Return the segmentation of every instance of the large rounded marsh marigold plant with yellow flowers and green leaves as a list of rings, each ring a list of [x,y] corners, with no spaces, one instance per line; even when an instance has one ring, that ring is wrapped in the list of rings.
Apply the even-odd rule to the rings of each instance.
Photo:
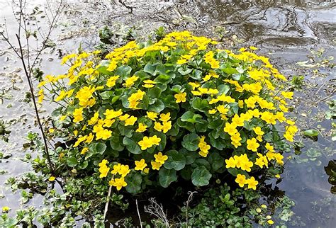
[[[64,57],[67,74],[38,85],[39,101],[60,104],[60,159],[130,193],[181,178],[206,186],[222,173],[256,190],[260,173],[279,176],[298,131],[286,115],[293,92],[255,47],[217,46],[184,31]]]

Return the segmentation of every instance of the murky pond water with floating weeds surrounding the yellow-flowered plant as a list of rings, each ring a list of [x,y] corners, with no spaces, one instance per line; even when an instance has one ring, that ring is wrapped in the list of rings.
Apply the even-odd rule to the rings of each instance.
[[[52,1],[50,1],[52,2]],[[45,1],[29,1],[29,8]],[[128,7],[125,7],[128,6]],[[43,13],[41,13],[43,15]],[[0,0],[0,25],[6,17],[10,37],[17,29],[11,1]],[[45,26],[43,17],[38,17]],[[332,120],[326,120],[327,101],[335,100],[335,69],[323,60],[335,57],[335,1],[68,1],[52,42],[55,47],[43,52],[40,67],[46,74],[60,74],[60,52],[74,52],[79,45],[92,49],[99,44],[97,31],[103,25],[116,30],[116,43],[129,27],[139,38],[163,25],[168,30],[192,30],[201,35],[235,40],[234,47],[255,45],[260,55],[266,55],[286,76],[303,75],[306,84],[296,93],[298,125],[303,130],[320,131],[318,141],[303,139],[301,155],[292,155],[277,184],[279,190],[296,203],[293,222],[289,227],[335,227],[336,196],[330,192],[324,167],[336,159],[332,141]],[[43,27],[42,27],[43,28]],[[233,37],[233,35],[235,35]],[[313,58],[311,50],[325,52]],[[304,62],[308,57],[311,62]],[[331,61],[332,62],[332,61]],[[317,65],[320,63],[320,65]],[[335,63],[335,61],[334,61]],[[313,66],[312,66],[313,65]],[[329,65],[330,66],[330,65]],[[317,70],[317,71],[316,71]],[[28,131],[37,131],[33,121],[33,106],[24,101],[28,88],[20,62],[0,41],[0,118],[9,122],[9,142],[0,141],[0,152],[12,154],[0,159],[0,183],[9,176],[29,170],[22,143]],[[45,113],[47,111],[45,110]],[[335,140],[335,138],[334,138]],[[0,207],[18,209],[20,195],[1,184]],[[30,204],[38,204],[33,200]]]

